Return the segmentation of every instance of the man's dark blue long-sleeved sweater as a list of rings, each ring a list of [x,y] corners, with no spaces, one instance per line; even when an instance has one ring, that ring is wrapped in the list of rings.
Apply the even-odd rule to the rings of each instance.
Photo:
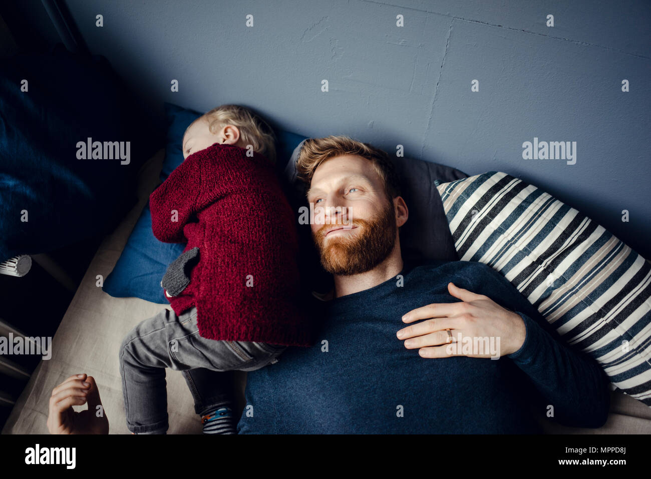
[[[423,358],[396,337],[402,315],[459,301],[448,282],[523,318],[526,338],[500,359]],[[316,300],[315,300],[316,301]],[[589,428],[605,423],[608,380],[567,346],[506,279],[476,262],[435,262],[327,302],[310,348],[248,373],[239,433],[540,433],[532,409]]]

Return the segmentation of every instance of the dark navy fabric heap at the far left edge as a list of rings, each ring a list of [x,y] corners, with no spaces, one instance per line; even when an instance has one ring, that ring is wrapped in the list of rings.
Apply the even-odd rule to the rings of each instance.
[[[124,217],[136,172],[161,143],[130,98],[100,56],[56,48],[3,59],[0,261],[108,232]],[[79,159],[89,138],[130,142],[129,164]]]

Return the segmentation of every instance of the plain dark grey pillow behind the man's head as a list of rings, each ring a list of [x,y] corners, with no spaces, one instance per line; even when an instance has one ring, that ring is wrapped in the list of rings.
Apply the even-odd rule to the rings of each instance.
[[[292,185],[295,204],[305,203],[305,185],[297,178],[296,159],[305,140],[296,146],[284,170],[284,178]],[[391,157],[391,156],[390,156]],[[452,182],[467,178],[456,168],[420,159],[391,157],[400,176],[402,197],[409,209],[409,219],[400,228],[402,258],[415,265],[431,260],[458,260],[450,234],[441,195],[434,180]]]

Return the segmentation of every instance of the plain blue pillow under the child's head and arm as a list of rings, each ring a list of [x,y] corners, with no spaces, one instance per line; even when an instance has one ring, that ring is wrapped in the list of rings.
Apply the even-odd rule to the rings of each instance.
[[[161,182],[183,162],[183,135],[187,126],[201,115],[197,111],[165,103],[167,138]],[[280,174],[294,148],[305,137],[282,130],[276,131],[276,137],[276,169]],[[183,253],[185,247],[184,243],[163,243],[156,239],[152,232],[152,215],[147,202],[102,289],[113,297],[139,297],[152,303],[169,304],[160,282],[167,266]]]

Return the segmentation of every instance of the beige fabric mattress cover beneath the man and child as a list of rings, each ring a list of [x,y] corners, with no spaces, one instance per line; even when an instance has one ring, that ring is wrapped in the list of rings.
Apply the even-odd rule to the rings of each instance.
[[[3,428],[4,434],[48,433],[48,400],[52,389],[72,374],[93,376],[100,389],[111,434],[128,434],[122,402],[118,348],[122,338],[139,322],[154,316],[165,305],[143,299],[115,298],[96,286],[96,275],[104,279],[113,270],[133,226],[158,184],[164,150],[141,168],[139,202],[116,230],[100,245],[52,340],[52,357],[42,360],[29,379]],[[245,375],[242,374],[243,388]],[[242,389],[241,389],[242,390]],[[602,428],[565,428],[541,418],[548,433],[651,433],[651,408],[619,390],[613,393],[608,421]],[[179,371],[167,370],[169,434],[201,433],[192,396]],[[240,398],[242,401],[243,398]],[[74,406],[81,411],[87,406]]]

